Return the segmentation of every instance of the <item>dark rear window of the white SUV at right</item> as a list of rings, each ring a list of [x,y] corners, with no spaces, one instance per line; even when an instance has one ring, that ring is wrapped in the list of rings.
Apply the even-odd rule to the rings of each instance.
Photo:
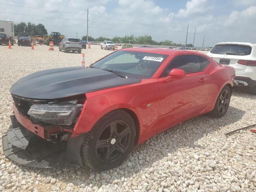
[[[250,55],[252,47],[246,45],[216,45],[210,51],[221,55]]]

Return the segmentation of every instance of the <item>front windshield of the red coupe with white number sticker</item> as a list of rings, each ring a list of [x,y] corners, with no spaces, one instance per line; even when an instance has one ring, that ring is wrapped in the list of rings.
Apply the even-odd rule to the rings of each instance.
[[[151,78],[167,57],[147,52],[117,51],[94,63],[93,67],[121,72],[128,78]]]

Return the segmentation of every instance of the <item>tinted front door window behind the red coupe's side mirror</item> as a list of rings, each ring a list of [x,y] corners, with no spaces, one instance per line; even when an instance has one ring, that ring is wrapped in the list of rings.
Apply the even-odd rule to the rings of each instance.
[[[182,69],[186,74],[201,71],[198,57],[194,55],[184,55],[174,58],[174,60],[172,60],[172,62],[167,66],[162,77],[168,76],[174,68]]]

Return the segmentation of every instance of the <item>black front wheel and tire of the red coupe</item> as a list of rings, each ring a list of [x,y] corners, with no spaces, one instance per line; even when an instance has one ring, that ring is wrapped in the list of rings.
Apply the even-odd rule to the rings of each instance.
[[[135,136],[134,120],[128,113],[109,112],[87,133],[81,147],[84,164],[97,171],[119,166],[132,150]]]

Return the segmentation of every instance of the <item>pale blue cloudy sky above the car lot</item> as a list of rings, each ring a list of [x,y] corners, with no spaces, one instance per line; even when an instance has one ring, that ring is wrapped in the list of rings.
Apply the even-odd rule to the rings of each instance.
[[[81,38],[87,9],[88,34],[94,38],[150,35],[185,44],[188,27],[187,44],[193,44],[196,28],[198,47],[204,36],[204,47],[256,43],[256,0],[0,0],[0,20],[42,23],[48,33]]]

